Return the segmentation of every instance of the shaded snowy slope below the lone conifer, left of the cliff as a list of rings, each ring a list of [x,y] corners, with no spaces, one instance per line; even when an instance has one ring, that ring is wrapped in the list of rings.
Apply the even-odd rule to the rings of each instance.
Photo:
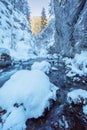
[[[37,36],[36,36],[36,48],[37,53],[40,57],[47,57],[50,48],[54,46],[55,43],[55,19],[51,19],[46,26]]]

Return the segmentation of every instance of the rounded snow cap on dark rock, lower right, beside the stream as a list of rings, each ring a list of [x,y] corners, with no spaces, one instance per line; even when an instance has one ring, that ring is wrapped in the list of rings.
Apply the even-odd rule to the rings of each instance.
[[[67,94],[67,101],[71,104],[86,104],[87,103],[87,91],[82,89],[77,89],[69,92]]]

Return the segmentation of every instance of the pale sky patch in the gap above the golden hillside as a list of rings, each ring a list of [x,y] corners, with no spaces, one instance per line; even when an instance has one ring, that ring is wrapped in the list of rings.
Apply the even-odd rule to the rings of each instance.
[[[31,9],[31,16],[40,16],[42,8],[46,9],[46,15],[48,16],[48,3],[49,0],[28,0]]]

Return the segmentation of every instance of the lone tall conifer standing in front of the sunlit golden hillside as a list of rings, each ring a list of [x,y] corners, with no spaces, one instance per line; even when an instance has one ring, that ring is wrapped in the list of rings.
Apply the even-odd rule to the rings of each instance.
[[[41,29],[44,29],[47,25],[46,11],[45,8],[42,8],[41,12]]]

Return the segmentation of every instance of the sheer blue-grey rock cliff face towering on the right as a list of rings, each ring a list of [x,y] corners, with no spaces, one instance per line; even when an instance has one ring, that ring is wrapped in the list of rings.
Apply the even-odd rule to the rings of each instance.
[[[56,51],[65,56],[87,50],[87,0],[54,0]]]

